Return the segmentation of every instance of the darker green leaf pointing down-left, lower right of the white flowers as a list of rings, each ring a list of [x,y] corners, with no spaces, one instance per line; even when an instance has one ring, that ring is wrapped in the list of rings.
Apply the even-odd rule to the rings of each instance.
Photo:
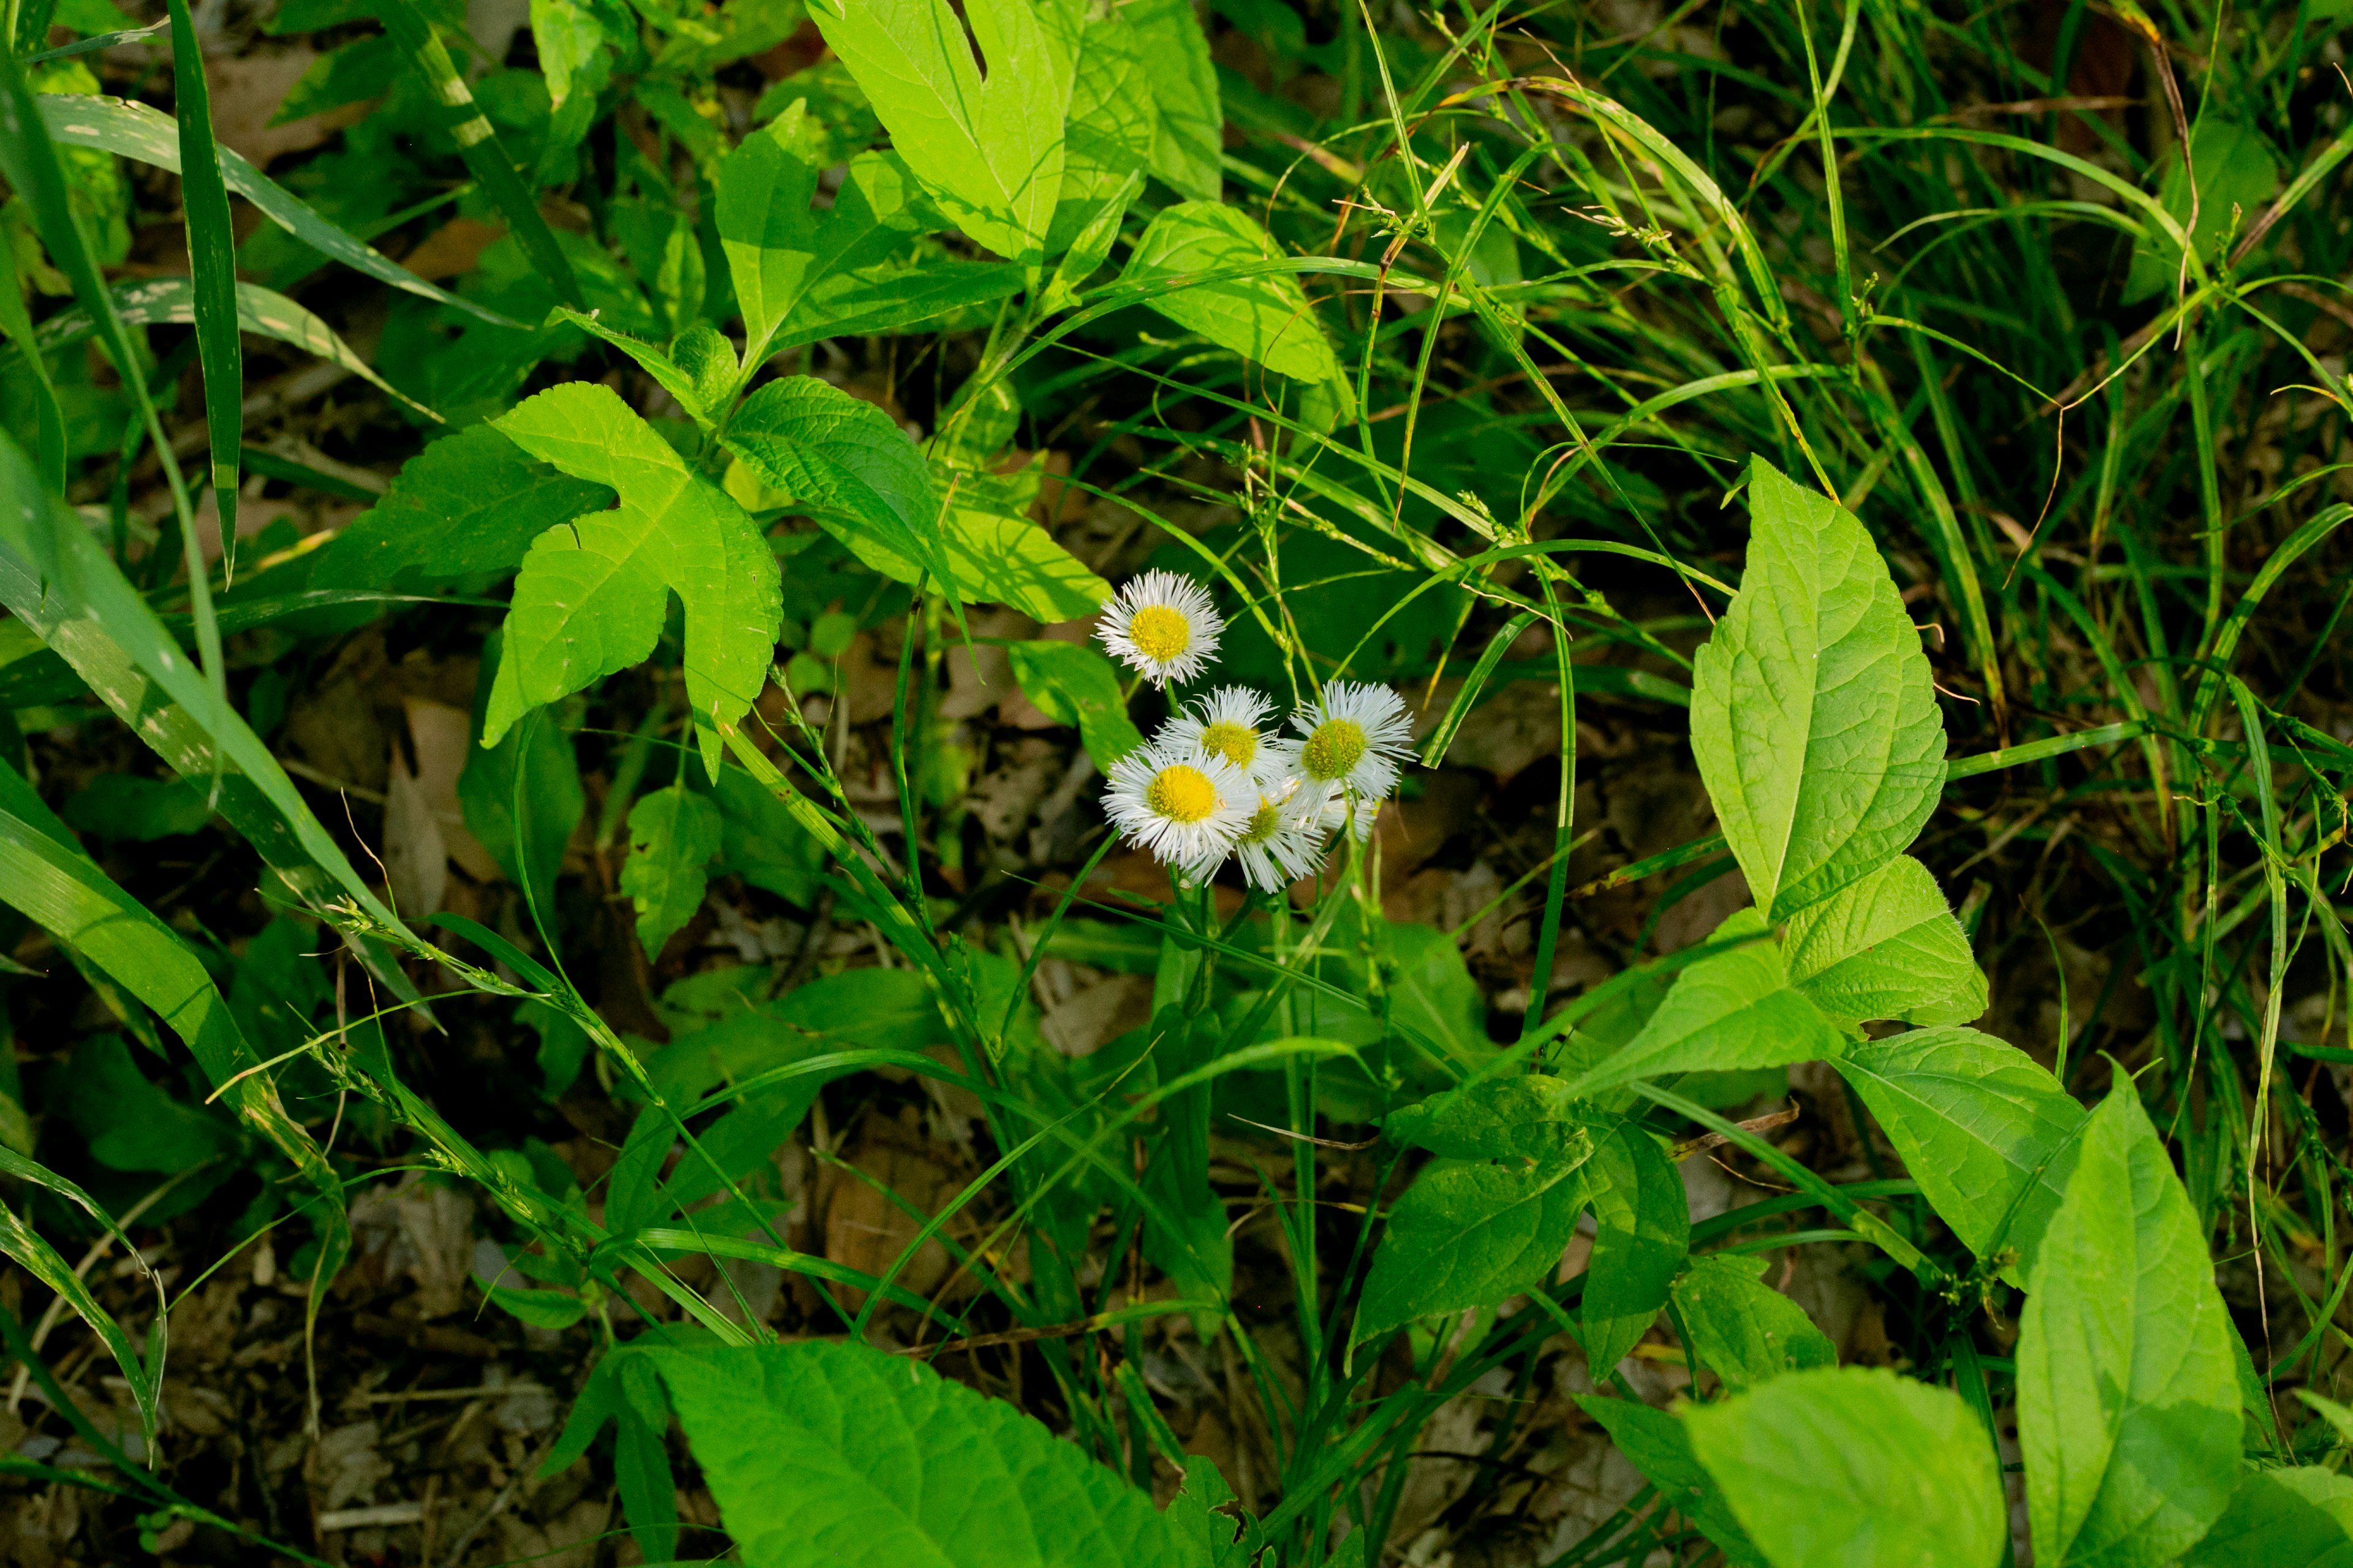
[[[1577,1234],[1591,1145],[1551,1161],[1438,1159],[1388,1211],[1351,1345],[1544,1284]]]

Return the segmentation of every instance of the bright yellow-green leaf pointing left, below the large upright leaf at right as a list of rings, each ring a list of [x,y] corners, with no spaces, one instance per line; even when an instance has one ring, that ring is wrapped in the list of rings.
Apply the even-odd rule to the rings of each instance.
[[[1758,936],[1765,922],[1741,910],[1708,940]],[[1788,985],[1781,947],[1769,936],[1699,959],[1675,973],[1659,1011],[1621,1051],[1577,1079],[1577,1093],[1657,1077],[1661,1072],[1729,1072],[1784,1067],[1840,1056],[1847,1048],[1821,1009]]]

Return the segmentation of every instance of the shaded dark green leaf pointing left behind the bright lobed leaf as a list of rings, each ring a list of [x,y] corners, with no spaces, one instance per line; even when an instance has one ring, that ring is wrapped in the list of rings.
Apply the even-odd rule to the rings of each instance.
[[[308,588],[424,592],[513,571],[548,529],[612,505],[612,489],[555,473],[489,425],[438,440],[332,541],[292,562]],[[278,571],[252,578],[282,592]]]

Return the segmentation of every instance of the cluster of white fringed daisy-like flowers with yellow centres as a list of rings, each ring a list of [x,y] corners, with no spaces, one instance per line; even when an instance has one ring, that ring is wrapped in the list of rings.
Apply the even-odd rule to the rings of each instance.
[[[1146,571],[1104,609],[1094,635],[1167,689],[1209,668],[1224,630],[1200,583]],[[1369,837],[1414,738],[1402,698],[1388,686],[1332,682],[1292,715],[1297,736],[1273,729],[1273,712],[1275,703],[1247,686],[1219,686],[1181,708],[1111,766],[1111,823],[1193,882],[1235,856],[1249,886],[1268,893],[1315,872],[1332,832]]]

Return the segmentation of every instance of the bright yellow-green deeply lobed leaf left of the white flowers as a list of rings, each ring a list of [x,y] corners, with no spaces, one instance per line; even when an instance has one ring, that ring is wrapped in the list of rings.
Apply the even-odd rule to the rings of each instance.
[[[760,696],[784,621],[776,557],[760,529],[607,386],[572,381],[492,423],[534,458],[612,487],[621,505],[548,529],[522,557],[482,743],[496,745],[532,708],[645,661],[675,592],[687,708],[715,778],[720,729]]]

